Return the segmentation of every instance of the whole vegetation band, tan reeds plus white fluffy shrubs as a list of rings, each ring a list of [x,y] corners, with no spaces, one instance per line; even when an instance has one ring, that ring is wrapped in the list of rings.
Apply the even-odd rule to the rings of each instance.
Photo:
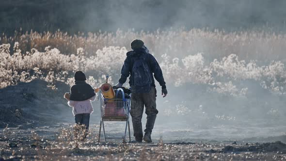
[[[286,89],[286,35],[270,32],[223,32],[203,29],[156,32],[15,32],[0,39],[0,88],[41,78],[72,83],[76,70],[87,73],[97,86],[104,75],[114,80],[129,43],[143,39],[157,58],[168,84],[205,84],[212,91],[244,95],[251,80],[279,95]]]

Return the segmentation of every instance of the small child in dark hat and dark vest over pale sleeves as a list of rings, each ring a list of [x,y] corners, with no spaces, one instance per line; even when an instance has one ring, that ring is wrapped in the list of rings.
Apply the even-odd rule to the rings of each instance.
[[[77,71],[75,85],[70,88],[70,94],[64,94],[64,98],[68,100],[67,104],[73,107],[76,124],[85,125],[88,131],[90,114],[94,111],[91,101],[95,100],[96,94],[95,90],[85,81],[84,73]]]

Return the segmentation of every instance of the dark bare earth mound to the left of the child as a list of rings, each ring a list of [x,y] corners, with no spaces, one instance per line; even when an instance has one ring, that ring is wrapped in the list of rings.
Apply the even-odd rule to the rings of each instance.
[[[34,80],[0,89],[0,128],[7,124],[20,129],[36,128],[72,119],[71,109],[62,96],[69,87],[57,83],[59,88],[54,91],[47,84]]]

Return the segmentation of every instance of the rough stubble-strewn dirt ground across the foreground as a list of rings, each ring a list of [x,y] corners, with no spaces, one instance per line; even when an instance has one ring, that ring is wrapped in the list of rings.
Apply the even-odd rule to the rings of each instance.
[[[63,128],[64,127],[64,128]],[[115,131],[109,135],[118,136]],[[102,137],[102,136],[101,136]],[[97,142],[98,125],[92,126],[88,137],[79,141],[73,128],[57,125],[35,129],[5,128],[0,134],[0,161],[256,161],[286,160],[286,144],[227,143],[221,141],[165,142],[152,144],[122,143],[122,140]]]

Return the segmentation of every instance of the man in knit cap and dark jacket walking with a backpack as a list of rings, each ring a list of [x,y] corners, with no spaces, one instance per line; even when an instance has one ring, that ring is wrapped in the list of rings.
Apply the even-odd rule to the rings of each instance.
[[[156,109],[157,91],[155,79],[162,87],[162,95],[166,97],[167,89],[163,78],[162,70],[149,50],[144,46],[142,40],[135,39],[130,44],[132,51],[127,52],[127,58],[121,69],[121,76],[117,86],[122,86],[129,77],[131,87],[131,110],[134,137],[136,142],[144,140],[151,143],[151,132],[154,127],[158,110]],[[154,77],[153,77],[154,74]],[[143,137],[142,115],[145,106],[147,114],[146,129]]]

